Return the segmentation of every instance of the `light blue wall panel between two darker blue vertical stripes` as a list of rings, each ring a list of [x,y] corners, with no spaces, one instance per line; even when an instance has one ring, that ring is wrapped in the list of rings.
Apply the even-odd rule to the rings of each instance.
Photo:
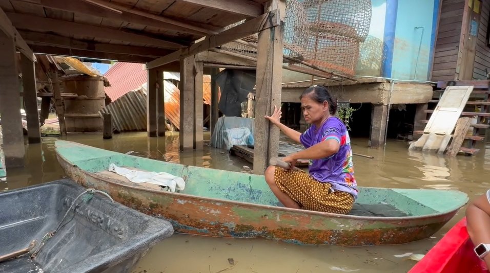
[[[398,2],[391,78],[428,80],[428,71],[432,66],[431,45],[434,44],[433,29],[437,23],[438,0],[387,1]]]

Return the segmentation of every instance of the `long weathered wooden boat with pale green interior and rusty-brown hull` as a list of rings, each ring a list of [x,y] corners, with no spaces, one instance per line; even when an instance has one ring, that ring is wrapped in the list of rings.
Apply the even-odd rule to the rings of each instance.
[[[433,235],[468,201],[465,193],[452,190],[360,187],[349,215],[322,213],[282,207],[263,175],[155,161],[60,140],[56,153],[77,183],[166,218],[180,233],[298,244],[401,244]],[[109,172],[111,163],[180,176],[185,190],[173,193],[131,183]]]

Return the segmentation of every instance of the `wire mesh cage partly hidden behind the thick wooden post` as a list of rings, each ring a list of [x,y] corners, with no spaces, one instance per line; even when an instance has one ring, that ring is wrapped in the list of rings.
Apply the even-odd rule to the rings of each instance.
[[[230,29],[242,24],[245,20],[241,20],[232,24],[225,29]],[[283,55],[293,58],[299,58],[304,51],[304,45],[308,37],[308,25],[306,24],[307,14],[303,5],[298,0],[287,0],[286,10],[284,15],[284,32],[283,32]],[[238,42],[230,42],[221,45],[221,49],[237,52],[250,57],[257,57],[257,42],[258,34],[253,34],[243,38],[242,40],[250,42],[255,47],[244,45]]]

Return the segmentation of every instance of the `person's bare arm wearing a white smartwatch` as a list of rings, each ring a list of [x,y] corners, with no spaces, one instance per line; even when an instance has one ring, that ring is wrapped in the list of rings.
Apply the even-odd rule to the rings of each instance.
[[[475,254],[490,268],[490,190],[468,205],[466,220]]]

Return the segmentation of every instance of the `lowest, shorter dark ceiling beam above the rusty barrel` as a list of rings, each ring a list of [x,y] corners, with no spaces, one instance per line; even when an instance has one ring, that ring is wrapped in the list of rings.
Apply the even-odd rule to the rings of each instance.
[[[84,57],[84,58],[93,58],[93,59],[102,59],[102,60],[138,62],[138,63],[146,63],[148,61],[153,60],[153,58],[147,58],[147,57],[142,57],[142,56],[104,53],[104,52],[95,52],[95,51],[77,50],[77,49],[56,48],[56,47],[48,47],[45,45],[34,45],[33,44],[33,45],[31,45],[31,47],[35,53],[50,54],[50,55],[75,56],[75,57]]]

